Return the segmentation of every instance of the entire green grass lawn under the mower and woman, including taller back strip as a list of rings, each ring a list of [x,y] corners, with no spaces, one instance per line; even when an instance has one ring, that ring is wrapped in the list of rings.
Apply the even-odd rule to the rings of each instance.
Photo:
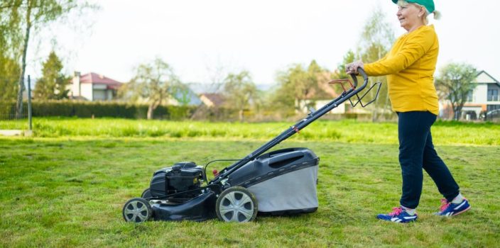
[[[320,208],[315,213],[259,216],[244,224],[210,220],[135,225],[121,217],[123,204],[148,187],[156,169],[186,160],[204,164],[238,159],[288,125],[40,119],[35,137],[0,137],[0,246],[498,245],[500,129],[491,124],[437,123],[433,128],[437,151],[472,204],[472,210],[456,218],[432,215],[441,196],[425,175],[418,222],[376,220],[376,213],[398,204],[401,193],[396,124],[352,120],[313,123],[276,147],[309,147],[320,156]]]

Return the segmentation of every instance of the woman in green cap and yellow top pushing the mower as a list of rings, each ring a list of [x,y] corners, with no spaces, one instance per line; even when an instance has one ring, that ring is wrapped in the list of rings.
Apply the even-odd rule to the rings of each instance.
[[[434,14],[433,0],[392,0],[398,5],[399,23],[407,33],[396,40],[386,57],[363,64],[353,62],[346,71],[359,67],[370,76],[387,75],[388,94],[393,111],[398,114],[399,163],[403,176],[400,207],[377,215],[381,220],[411,222],[417,219],[415,208],[422,193],[423,171],[427,171],[445,199],[437,215],[453,216],[470,209],[452,174],[434,150],[430,126],[439,111],[433,74],[439,52],[434,26],[428,15]]]

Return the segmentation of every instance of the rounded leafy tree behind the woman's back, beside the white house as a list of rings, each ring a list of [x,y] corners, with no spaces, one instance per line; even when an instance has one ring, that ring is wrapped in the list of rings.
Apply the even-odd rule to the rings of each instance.
[[[451,63],[440,69],[435,84],[441,98],[452,104],[455,120],[460,119],[460,111],[467,101],[467,95],[474,89],[477,69],[471,64]]]

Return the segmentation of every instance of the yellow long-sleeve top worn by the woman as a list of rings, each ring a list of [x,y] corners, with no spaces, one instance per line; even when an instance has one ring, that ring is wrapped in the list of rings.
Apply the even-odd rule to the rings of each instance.
[[[364,70],[369,76],[387,75],[393,111],[429,111],[437,115],[434,72],[438,52],[434,26],[421,26],[401,35],[386,57],[364,64]]]

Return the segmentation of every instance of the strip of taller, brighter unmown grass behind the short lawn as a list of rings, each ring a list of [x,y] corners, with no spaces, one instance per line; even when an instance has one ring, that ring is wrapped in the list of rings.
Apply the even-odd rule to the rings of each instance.
[[[294,123],[207,123],[197,121],[124,120],[112,118],[36,118],[35,137],[173,137],[268,140]],[[27,129],[26,120],[1,121],[1,129]],[[440,145],[500,145],[500,125],[437,122],[434,141]],[[396,144],[397,123],[318,120],[294,140]]]

